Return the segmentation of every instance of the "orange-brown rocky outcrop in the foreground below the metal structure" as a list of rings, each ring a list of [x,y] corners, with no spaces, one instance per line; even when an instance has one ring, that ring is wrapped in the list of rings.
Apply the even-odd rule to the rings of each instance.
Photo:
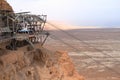
[[[0,56],[0,80],[84,80],[65,52],[44,48]]]

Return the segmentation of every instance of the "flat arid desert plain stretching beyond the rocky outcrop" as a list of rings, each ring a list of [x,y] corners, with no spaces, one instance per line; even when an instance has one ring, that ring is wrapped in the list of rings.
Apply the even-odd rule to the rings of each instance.
[[[120,29],[50,31],[44,45],[69,53],[85,80],[120,80]]]

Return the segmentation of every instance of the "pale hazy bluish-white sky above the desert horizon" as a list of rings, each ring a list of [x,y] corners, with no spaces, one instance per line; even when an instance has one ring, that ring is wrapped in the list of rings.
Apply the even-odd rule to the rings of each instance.
[[[47,14],[79,26],[120,27],[120,0],[7,0],[15,12]]]

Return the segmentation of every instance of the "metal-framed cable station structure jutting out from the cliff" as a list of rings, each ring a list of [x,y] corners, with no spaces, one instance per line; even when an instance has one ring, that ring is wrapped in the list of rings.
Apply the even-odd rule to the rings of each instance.
[[[11,13],[9,11],[0,13],[0,41],[11,41],[7,49],[15,50],[28,43],[40,43],[42,46],[49,33],[44,31],[46,15],[33,15],[29,12]]]

